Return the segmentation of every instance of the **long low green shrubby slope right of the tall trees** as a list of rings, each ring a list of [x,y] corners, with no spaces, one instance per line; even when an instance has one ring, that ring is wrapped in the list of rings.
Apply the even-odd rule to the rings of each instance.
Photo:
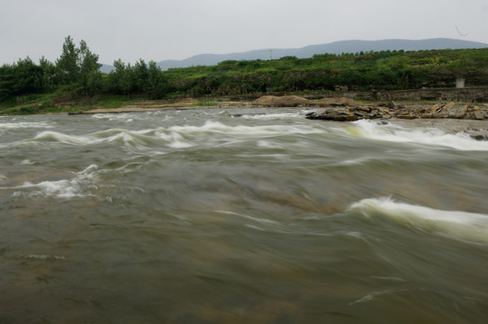
[[[382,51],[321,54],[313,58],[223,61],[213,67],[174,68],[165,72],[170,91],[201,96],[265,92],[415,89],[488,85],[488,49]]]

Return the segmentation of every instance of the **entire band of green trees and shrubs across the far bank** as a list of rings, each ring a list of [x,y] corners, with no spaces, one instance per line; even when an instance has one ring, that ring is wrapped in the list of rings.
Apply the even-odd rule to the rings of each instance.
[[[55,63],[19,59],[0,67],[0,112],[76,111],[90,106],[121,106],[132,98],[224,96],[269,92],[415,89],[488,85],[488,49],[443,49],[320,54],[313,58],[222,61],[212,67],[161,71],[140,59],[121,59],[109,74],[99,71],[98,55],[86,42],[68,36]],[[201,105],[211,102],[201,103]]]

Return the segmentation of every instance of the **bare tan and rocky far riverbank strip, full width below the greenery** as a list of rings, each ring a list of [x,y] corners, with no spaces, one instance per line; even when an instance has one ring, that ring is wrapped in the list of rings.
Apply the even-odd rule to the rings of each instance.
[[[38,113],[122,113],[153,112],[160,110],[187,110],[202,108],[259,108],[259,107],[301,107],[315,110],[306,117],[312,120],[357,121],[362,119],[397,118],[412,119],[456,119],[484,121],[488,119],[488,103],[447,102],[447,101],[364,101],[337,96],[308,95],[263,95],[249,98],[185,97],[173,100],[120,100],[107,102],[100,99],[91,101],[73,98],[56,98],[50,101],[53,109],[43,109],[41,103],[3,110],[2,114]]]

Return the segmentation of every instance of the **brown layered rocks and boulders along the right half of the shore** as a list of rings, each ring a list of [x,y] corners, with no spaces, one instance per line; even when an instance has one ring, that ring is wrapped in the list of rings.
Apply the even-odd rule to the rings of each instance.
[[[447,132],[463,132],[474,139],[488,140],[488,103],[418,103],[376,102],[362,103],[350,98],[322,98],[307,100],[296,95],[267,95],[252,102],[267,107],[321,108],[306,115],[310,120],[358,121],[395,119],[395,122],[415,122]]]

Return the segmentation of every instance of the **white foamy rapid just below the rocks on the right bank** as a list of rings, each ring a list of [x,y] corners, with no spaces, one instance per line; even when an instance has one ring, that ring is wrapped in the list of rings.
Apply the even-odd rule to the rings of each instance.
[[[366,139],[378,139],[400,143],[417,143],[459,150],[488,150],[488,141],[472,139],[464,133],[447,134],[433,128],[406,129],[388,123],[381,125],[376,121],[354,121],[355,127],[346,128],[350,134]]]

